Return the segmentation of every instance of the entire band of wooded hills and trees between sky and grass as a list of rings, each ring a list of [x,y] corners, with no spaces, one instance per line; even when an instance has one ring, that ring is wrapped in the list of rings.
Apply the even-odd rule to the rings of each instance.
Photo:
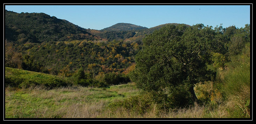
[[[248,117],[250,37],[250,24],[169,23],[148,29],[118,23],[93,30],[44,13],[5,10],[5,67],[68,77],[85,86],[88,80],[101,86],[132,81],[167,109],[205,104],[220,98],[218,93],[226,99],[240,96],[231,91],[231,83],[223,86],[229,81],[223,73],[246,66],[239,71],[249,73],[249,80],[241,81],[249,93],[243,94],[240,108]],[[209,85],[208,91],[202,88]]]

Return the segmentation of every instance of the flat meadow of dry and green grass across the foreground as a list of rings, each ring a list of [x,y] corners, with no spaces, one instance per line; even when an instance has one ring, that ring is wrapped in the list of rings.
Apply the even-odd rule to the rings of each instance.
[[[189,108],[164,111],[156,104],[145,113],[119,107],[110,109],[108,104],[124,100],[140,91],[135,84],[110,88],[66,87],[51,90],[42,87],[5,89],[6,118],[229,118],[229,108],[236,103],[195,105]],[[214,107],[213,107],[214,106]]]

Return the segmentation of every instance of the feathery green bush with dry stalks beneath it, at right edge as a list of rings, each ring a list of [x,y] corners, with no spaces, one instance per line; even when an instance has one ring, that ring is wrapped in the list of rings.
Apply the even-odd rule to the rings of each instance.
[[[223,92],[228,98],[231,117],[250,117],[250,43],[245,44],[242,52],[227,63],[223,78]]]

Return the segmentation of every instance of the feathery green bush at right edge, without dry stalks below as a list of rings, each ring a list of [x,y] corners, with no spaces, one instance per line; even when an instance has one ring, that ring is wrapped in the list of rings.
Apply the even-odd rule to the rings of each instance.
[[[236,59],[235,59],[236,58]],[[250,44],[247,43],[243,52],[227,63],[229,69],[225,72],[225,92],[243,99],[250,97]]]

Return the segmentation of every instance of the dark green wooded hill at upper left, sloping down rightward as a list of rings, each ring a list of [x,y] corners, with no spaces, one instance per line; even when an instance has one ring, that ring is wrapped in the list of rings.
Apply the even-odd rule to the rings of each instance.
[[[97,37],[69,21],[44,13],[15,13],[5,10],[5,37],[17,44],[69,41]]]

